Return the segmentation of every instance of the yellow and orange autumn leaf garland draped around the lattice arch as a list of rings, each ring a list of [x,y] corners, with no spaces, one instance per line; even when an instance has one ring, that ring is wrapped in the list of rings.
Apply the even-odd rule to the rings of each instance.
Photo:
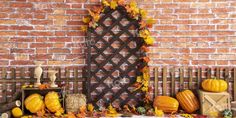
[[[98,26],[97,22],[100,19],[100,14],[104,12],[106,7],[110,7],[110,9],[115,10],[117,7],[122,6],[125,8],[129,16],[135,20],[139,21],[139,37],[144,41],[141,50],[143,52],[148,52],[147,48],[150,45],[153,45],[154,39],[151,37],[151,33],[148,28],[152,27],[154,20],[151,18],[147,18],[147,12],[143,9],[138,8],[137,3],[135,1],[130,2],[129,4],[125,4],[124,0],[102,0],[102,6],[95,7],[93,10],[89,10],[89,17],[83,18],[83,22],[87,24],[87,26],[82,26],[81,30],[87,31],[88,28],[96,28]],[[144,20],[145,19],[145,20]],[[142,75],[136,78],[136,83],[134,86],[136,90],[140,89],[143,92],[149,91],[149,67],[148,62],[150,61],[149,57],[144,56],[140,58],[144,63],[144,67],[141,68]]]

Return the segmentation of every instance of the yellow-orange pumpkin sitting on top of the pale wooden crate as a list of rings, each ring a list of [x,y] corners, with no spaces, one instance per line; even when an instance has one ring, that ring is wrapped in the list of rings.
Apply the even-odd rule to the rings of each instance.
[[[222,79],[205,79],[202,82],[202,88],[210,92],[223,92],[227,90],[228,85],[227,82]]]

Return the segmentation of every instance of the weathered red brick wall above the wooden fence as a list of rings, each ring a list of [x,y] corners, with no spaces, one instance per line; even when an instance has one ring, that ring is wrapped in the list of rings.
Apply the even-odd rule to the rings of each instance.
[[[99,0],[1,0],[0,65],[84,66],[86,11]],[[236,64],[235,0],[139,0],[157,22],[152,66]]]

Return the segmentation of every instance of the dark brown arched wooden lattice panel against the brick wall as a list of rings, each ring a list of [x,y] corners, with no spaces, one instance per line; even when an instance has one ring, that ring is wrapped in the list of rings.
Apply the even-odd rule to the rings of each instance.
[[[141,98],[132,84],[142,65],[138,21],[125,8],[106,8],[98,26],[88,31],[87,95],[95,106],[124,105]]]

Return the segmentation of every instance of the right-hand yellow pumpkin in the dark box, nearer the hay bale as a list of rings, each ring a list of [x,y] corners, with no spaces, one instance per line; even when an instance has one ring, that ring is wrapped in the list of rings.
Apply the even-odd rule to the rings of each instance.
[[[44,102],[47,109],[52,113],[55,113],[60,109],[62,109],[59,100],[59,95],[57,92],[54,91],[48,92],[48,94],[45,96]]]

